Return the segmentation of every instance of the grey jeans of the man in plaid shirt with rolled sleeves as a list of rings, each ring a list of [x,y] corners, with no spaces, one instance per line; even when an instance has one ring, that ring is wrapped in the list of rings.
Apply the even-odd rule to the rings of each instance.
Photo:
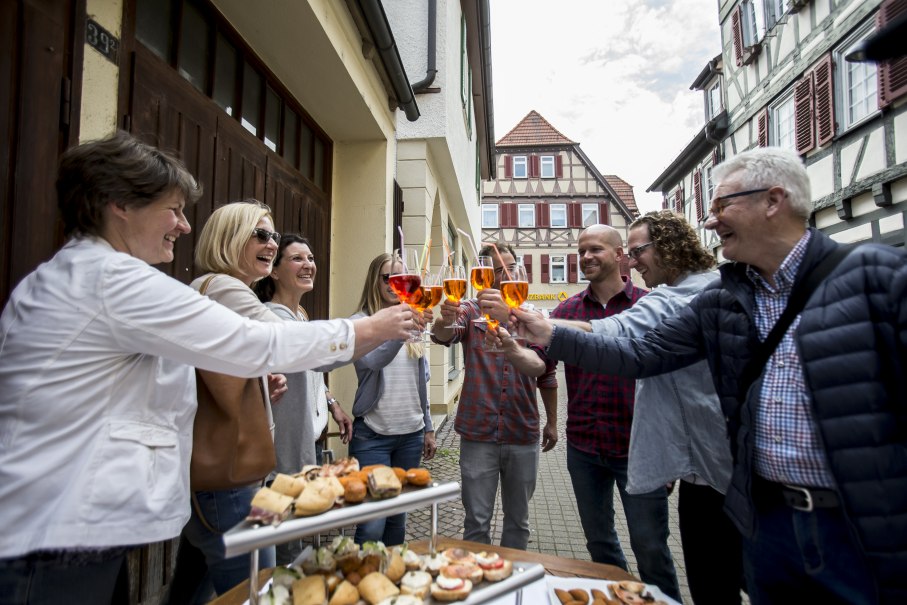
[[[466,518],[463,539],[491,544],[498,479],[504,527],[501,546],[526,550],[529,544],[529,500],[535,492],[539,446],[460,440],[461,496]]]

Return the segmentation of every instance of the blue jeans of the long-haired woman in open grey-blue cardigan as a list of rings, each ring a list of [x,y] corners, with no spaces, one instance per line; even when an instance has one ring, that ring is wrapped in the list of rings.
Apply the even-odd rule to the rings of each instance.
[[[420,429],[405,435],[379,435],[362,418],[356,418],[353,421],[350,456],[359,460],[359,466],[385,464],[411,469],[422,462],[424,433]],[[406,513],[360,523],[356,526],[354,539],[357,544],[370,540],[380,540],[387,546],[403,544],[406,540]]]

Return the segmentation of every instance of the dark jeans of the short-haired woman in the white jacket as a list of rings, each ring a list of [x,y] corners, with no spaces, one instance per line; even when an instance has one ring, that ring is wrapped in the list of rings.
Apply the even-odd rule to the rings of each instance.
[[[97,605],[120,602],[117,578],[125,553],[86,564],[40,560],[27,555],[0,559],[0,605]]]

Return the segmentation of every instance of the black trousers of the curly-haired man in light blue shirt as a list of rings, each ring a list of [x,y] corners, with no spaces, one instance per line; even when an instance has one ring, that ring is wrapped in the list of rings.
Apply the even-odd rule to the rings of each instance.
[[[680,482],[677,512],[683,562],[696,605],[739,605],[743,585],[740,533],[724,514],[724,495]]]

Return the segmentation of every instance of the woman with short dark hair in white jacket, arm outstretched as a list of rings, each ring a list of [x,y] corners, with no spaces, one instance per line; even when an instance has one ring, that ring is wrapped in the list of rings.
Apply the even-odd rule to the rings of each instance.
[[[63,154],[69,240],[0,316],[0,603],[109,603],[130,546],[189,518],[193,367],[237,376],[349,361],[414,322],[244,319],[171,262],[200,187],[127,133]],[[254,237],[252,232],[248,237]]]

